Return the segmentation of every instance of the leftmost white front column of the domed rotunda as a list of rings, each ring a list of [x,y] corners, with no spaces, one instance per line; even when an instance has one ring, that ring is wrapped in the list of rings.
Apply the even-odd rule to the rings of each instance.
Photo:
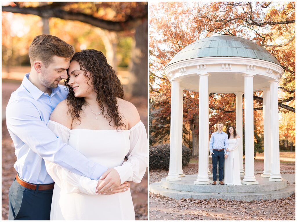
[[[171,81],[171,114],[170,114],[170,159],[169,173],[166,180],[180,181],[178,167],[178,134],[179,134],[179,82]]]

